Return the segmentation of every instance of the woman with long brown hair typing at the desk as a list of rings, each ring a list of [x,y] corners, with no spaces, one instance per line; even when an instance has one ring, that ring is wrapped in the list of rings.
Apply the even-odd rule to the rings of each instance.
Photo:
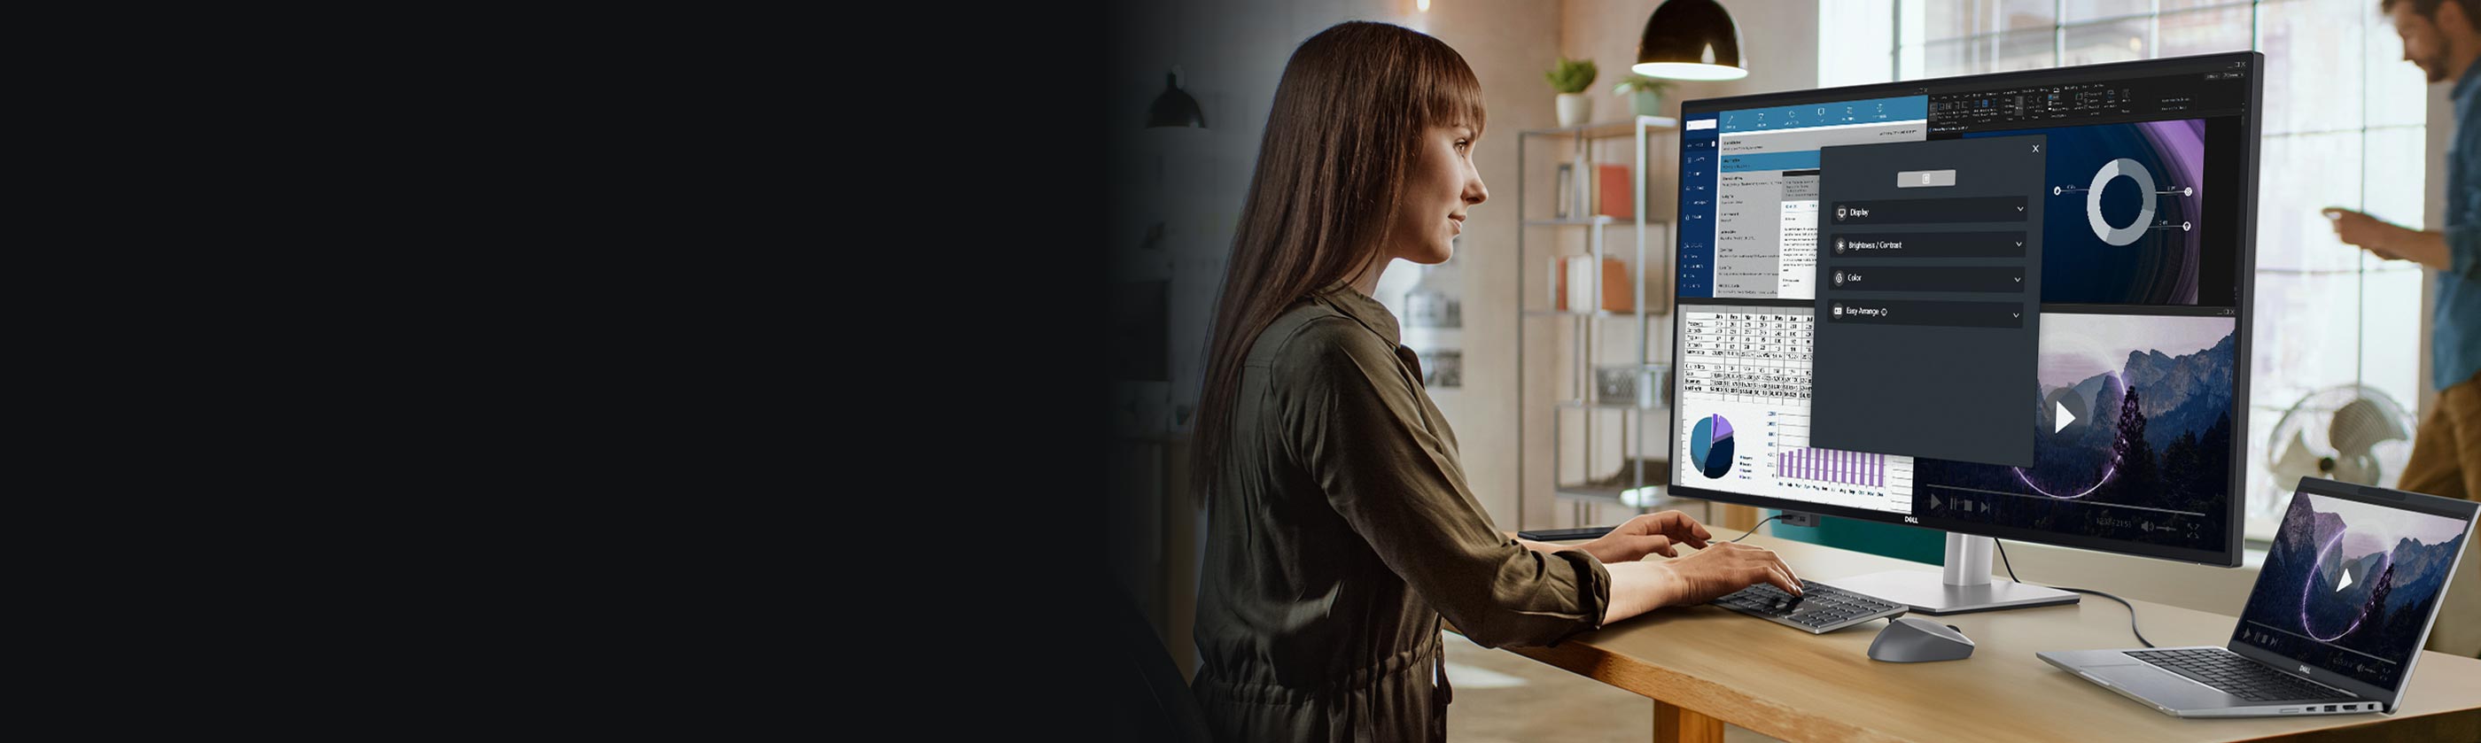
[[[1370,297],[1441,263],[1489,191],[1481,87],[1454,50],[1345,22],[1293,52],[1216,307],[1193,476],[1208,503],[1191,684],[1223,741],[1436,741],[1439,622],[1551,644],[1754,582],[1774,552],[1670,510],[1583,547],[1499,532]],[[1699,552],[1670,562],[1672,545]]]

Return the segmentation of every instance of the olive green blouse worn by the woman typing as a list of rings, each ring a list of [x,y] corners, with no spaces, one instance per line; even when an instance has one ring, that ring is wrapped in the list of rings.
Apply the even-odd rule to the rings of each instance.
[[[1352,287],[1250,347],[1216,463],[1198,676],[1221,741],[1439,741],[1439,619],[1484,646],[1595,629],[1610,572],[1491,525],[1397,319]]]

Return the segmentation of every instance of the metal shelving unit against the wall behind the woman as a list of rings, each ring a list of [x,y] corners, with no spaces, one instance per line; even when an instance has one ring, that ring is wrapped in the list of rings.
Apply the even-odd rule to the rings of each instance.
[[[1628,136],[1628,139],[1635,141],[1635,149],[1632,149],[1635,161],[1630,163],[1630,173],[1632,173],[1632,178],[1630,178],[1630,198],[1635,203],[1635,208],[1632,208],[1635,218],[1630,218],[1630,220],[1610,218],[1610,215],[1533,218],[1533,211],[1528,211],[1526,203],[1528,203],[1531,186],[1536,186],[1533,183],[1536,178],[1518,178],[1518,188],[1516,188],[1516,211],[1518,211],[1518,215],[1526,215],[1523,218],[1523,228],[1518,228],[1518,238],[1516,238],[1516,253],[1518,253],[1518,260],[1516,260],[1516,297],[1518,297],[1518,315],[1521,315],[1518,322],[1516,322],[1516,347],[1518,347],[1518,354],[1521,354],[1521,359],[1516,364],[1516,389],[1518,389],[1518,399],[1521,399],[1523,409],[1531,409],[1531,406],[1538,404],[1533,399],[1533,394],[1531,394],[1531,386],[1526,386],[1526,376],[1528,376],[1526,369],[1533,367],[1533,362],[1536,362],[1533,357],[1528,357],[1531,349],[1526,347],[1528,327],[1533,322],[1558,322],[1558,319],[1573,322],[1570,337],[1575,342],[1573,342],[1570,349],[1566,349],[1568,359],[1570,359],[1570,367],[1573,367],[1573,369],[1568,369],[1570,389],[1566,394],[1553,394],[1553,399],[1548,401],[1548,406],[1553,411],[1551,414],[1551,473],[1548,473],[1548,478],[1553,483],[1551,493],[1558,500],[1570,503],[1575,508],[1573,510],[1573,520],[1578,525],[1583,525],[1588,520],[1588,508],[1590,505],[1635,508],[1640,513],[1647,510],[1647,508],[1670,508],[1672,505],[1672,498],[1665,493],[1667,490],[1665,483],[1670,483],[1667,463],[1660,461],[1662,456],[1667,456],[1667,446],[1655,446],[1652,456],[1645,451],[1647,443],[1662,443],[1662,441],[1647,441],[1647,438],[1655,436],[1652,431],[1667,431],[1670,428],[1670,401],[1662,399],[1662,396],[1670,394],[1670,384],[1667,384],[1670,379],[1665,376],[1665,374],[1670,374],[1670,364],[1667,364],[1670,362],[1667,359],[1670,349],[1665,347],[1662,357],[1655,357],[1652,342],[1647,342],[1647,334],[1652,332],[1650,315],[1667,315],[1670,307],[1665,307],[1665,310],[1650,310],[1650,307],[1645,307],[1645,300],[1647,300],[1645,297],[1645,282],[1647,282],[1647,277],[1655,275],[1652,270],[1657,267],[1657,263],[1667,270],[1667,265],[1670,265],[1670,253],[1667,250],[1672,248],[1670,243],[1665,243],[1665,245],[1652,245],[1655,250],[1647,250],[1650,243],[1652,243],[1652,238],[1655,238],[1655,228],[1660,228],[1662,235],[1670,235],[1670,225],[1660,223],[1660,220],[1647,220],[1645,173],[1647,173],[1647,163],[1652,163],[1650,139],[1655,134],[1677,131],[1677,129],[1680,129],[1677,119],[1667,119],[1667,116],[1635,116],[1635,119],[1625,119],[1625,121],[1600,121],[1600,124],[1585,124],[1585,126],[1558,126],[1558,129],[1526,129],[1526,131],[1518,131],[1518,146],[1516,146],[1516,171],[1518,173],[1531,173],[1526,168],[1526,159],[1541,144],[1563,146],[1561,154],[1563,154],[1566,161],[1575,161],[1580,166],[1590,166],[1593,163],[1593,144],[1595,141],[1623,139],[1623,136]],[[1590,183],[1590,176],[1588,176],[1588,183]],[[1558,188],[1558,183],[1553,183],[1553,188]],[[1575,201],[1573,201],[1570,211],[1590,211],[1590,206],[1585,203],[1583,188],[1578,188],[1573,193],[1573,198]],[[1603,270],[1603,258],[1605,258],[1605,230],[1615,230],[1615,228],[1618,230],[1632,230],[1632,235],[1625,235],[1625,238],[1635,238],[1635,263],[1630,267],[1630,290],[1635,292],[1635,302],[1630,302],[1630,307],[1632,307],[1630,312],[1603,310],[1605,307],[1605,302],[1603,302],[1603,282],[1605,280],[1603,280],[1600,270]],[[1590,302],[1585,305],[1590,310],[1553,310],[1556,302],[1558,302],[1558,297],[1551,297],[1551,302],[1543,305],[1543,307],[1531,307],[1523,300],[1526,290],[1528,290],[1526,282],[1528,280],[1538,280],[1538,277],[1531,277],[1528,267],[1533,263],[1548,258],[1548,255],[1556,255],[1556,253],[1536,255],[1536,253],[1528,253],[1528,248],[1538,248],[1538,245],[1548,243],[1548,245],[1553,245],[1553,250],[1558,250],[1561,238],[1566,238],[1566,235],[1561,235],[1561,230],[1585,230],[1585,248],[1588,248],[1585,260],[1590,260],[1590,265],[1595,267],[1595,280],[1593,280],[1593,287],[1588,290],[1590,292]],[[1548,233],[1548,235],[1538,235],[1538,233]],[[1650,263],[1647,258],[1655,258],[1655,260]],[[1615,364],[1603,364],[1598,359],[1600,357],[1598,349],[1600,349],[1603,337],[1610,334],[1610,332],[1628,332],[1630,339],[1632,339],[1632,354],[1625,357],[1625,359],[1618,359]],[[1553,332],[1553,337],[1558,337],[1558,334]],[[1640,401],[1635,401],[1635,399],[1630,399],[1630,401],[1608,401],[1608,399],[1600,399],[1600,386],[1595,384],[1595,369],[1598,367],[1630,367],[1630,364],[1635,367],[1632,374],[1635,374],[1635,386],[1637,386],[1640,396],[1645,396],[1645,391],[1652,389],[1652,406],[1640,406]],[[1568,416],[1578,416],[1580,426],[1575,426],[1575,428],[1583,431],[1583,436],[1578,436],[1578,441],[1568,441],[1570,438],[1568,436],[1568,428],[1570,428]],[[1603,428],[1603,424],[1608,424],[1608,416],[1618,416],[1620,419],[1618,421],[1620,424],[1618,426],[1620,463],[1615,463],[1615,466],[1610,466],[1610,463],[1595,466],[1595,453],[1600,451],[1598,441],[1595,441],[1595,433],[1598,433],[1598,428]],[[1526,416],[1518,416],[1518,419],[1523,421]],[[1531,525],[1523,525],[1526,490],[1531,490],[1531,488],[1526,488],[1526,483],[1531,483],[1533,478],[1546,478],[1546,476],[1526,471],[1526,451],[1523,451],[1523,446],[1526,446],[1526,436],[1518,436],[1518,451],[1516,451],[1516,478],[1518,478],[1516,513],[1518,513],[1518,528],[1531,528]],[[1583,473],[1585,473],[1583,480],[1566,480],[1563,478],[1563,473],[1568,471],[1568,448],[1570,446],[1578,448],[1578,451],[1583,451],[1583,463],[1585,463],[1583,466]],[[1615,473],[1603,476],[1605,471],[1613,471],[1613,468],[1615,468]]]

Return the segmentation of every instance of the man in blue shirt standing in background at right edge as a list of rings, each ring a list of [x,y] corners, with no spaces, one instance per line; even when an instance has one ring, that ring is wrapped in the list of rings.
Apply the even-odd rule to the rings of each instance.
[[[2404,59],[2431,84],[2454,77],[2456,136],[2446,151],[2446,230],[2424,233],[2372,215],[2327,208],[2335,235],[2377,258],[2412,260],[2436,272],[2436,310],[2429,317],[2429,381],[2436,409],[2412,436],[2402,490],[2481,500],[2481,0],[2379,0],[2377,7],[2404,40]],[[2481,656],[2481,570],[2464,550],[2446,587],[2429,649]]]

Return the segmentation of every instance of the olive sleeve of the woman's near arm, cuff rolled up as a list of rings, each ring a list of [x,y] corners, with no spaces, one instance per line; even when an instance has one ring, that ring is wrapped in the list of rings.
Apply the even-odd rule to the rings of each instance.
[[[1610,570],[1583,550],[1533,552],[1491,525],[1464,468],[1424,426],[1397,349],[1317,319],[1278,357],[1290,453],[1379,560],[1481,646],[1553,644],[1595,629]]]

